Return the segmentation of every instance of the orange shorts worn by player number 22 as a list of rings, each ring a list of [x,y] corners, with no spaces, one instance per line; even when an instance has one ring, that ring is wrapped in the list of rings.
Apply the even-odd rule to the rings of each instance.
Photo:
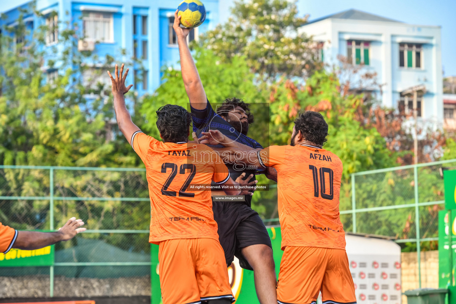
[[[158,248],[163,304],[234,302],[222,246],[212,238],[174,239]]]

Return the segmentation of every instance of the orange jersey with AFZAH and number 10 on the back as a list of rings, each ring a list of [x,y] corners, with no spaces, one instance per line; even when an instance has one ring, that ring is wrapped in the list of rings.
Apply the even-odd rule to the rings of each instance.
[[[339,216],[342,161],[309,145],[270,146],[258,152],[260,165],[277,170],[282,249],[285,246],[345,250]]]

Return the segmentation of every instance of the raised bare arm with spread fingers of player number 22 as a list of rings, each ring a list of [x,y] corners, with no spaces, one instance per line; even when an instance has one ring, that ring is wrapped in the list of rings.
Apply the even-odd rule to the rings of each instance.
[[[128,142],[130,142],[133,133],[135,133],[136,131],[140,131],[141,129],[138,128],[138,126],[136,126],[135,124],[133,124],[133,121],[131,121],[130,113],[128,112],[128,109],[125,106],[124,94],[126,94],[130,90],[130,88],[133,87],[132,84],[130,84],[128,87],[125,87],[125,79],[127,78],[128,70],[129,69],[127,69],[125,75],[123,75],[124,64],[122,63],[119,74],[118,67],[116,64],[115,79],[109,71],[108,75],[109,77],[111,77],[112,82],[112,92],[114,96],[114,112],[115,117],[117,119],[117,124],[119,125],[120,132],[122,132],[122,134],[124,134]]]

